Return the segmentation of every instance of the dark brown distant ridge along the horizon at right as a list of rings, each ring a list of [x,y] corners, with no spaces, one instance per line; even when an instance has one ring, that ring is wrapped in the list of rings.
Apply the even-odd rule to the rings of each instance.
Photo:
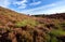
[[[36,17],[48,17],[48,18],[62,18],[65,19],[65,13],[56,13],[56,14],[51,14],[51,15],[32,15]]]

